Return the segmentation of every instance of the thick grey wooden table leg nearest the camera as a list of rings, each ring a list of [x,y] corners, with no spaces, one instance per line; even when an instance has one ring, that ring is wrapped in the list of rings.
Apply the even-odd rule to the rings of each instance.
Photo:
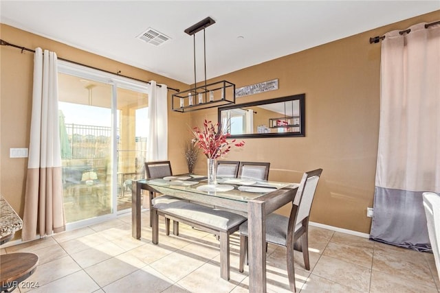
[[[266,292],[265,203],[248,202],[249,292]]]

